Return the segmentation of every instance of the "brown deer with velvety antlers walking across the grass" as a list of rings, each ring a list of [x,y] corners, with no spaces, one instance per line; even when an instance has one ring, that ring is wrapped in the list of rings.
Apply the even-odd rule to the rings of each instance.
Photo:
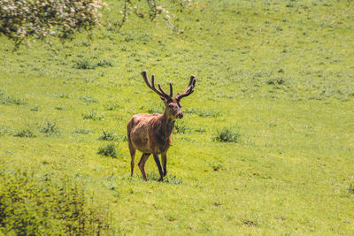
[[[151,75],[151,82],[148,80],[146,71],[142,71],[142,79],[146,85],[159,95],[165,104],[164,114],[135,114],[127,123],[127,141],[129,152],[131,156],[131,176],[133,177],[135,166],[135,152],[136,149],[142,152],[142,157],[139,161],[139,169],[142,171],[142,178],[147,181],[145,172],[145,163],[149,156],[154,156],[155,163],[158,165],[158,173],[160,178],[158,181],[164,181],[167,174],[167,150],[171,146],[171,133],[176,119],[183,118],[181,111],[181,99],[194,92],[196,86],[196,76],[191,75],[189,86],[180,95],[177,94],[173,97],[173,86],[170,83],[170,93],[166,94],[164,89],[158,84],[155,87],[155,75]],[[162,166],[160,164],[158,155],[161,156]]]

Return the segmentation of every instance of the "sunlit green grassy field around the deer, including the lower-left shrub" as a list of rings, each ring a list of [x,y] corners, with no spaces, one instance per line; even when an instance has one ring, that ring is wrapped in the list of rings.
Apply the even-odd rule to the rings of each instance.
[[[173,12],[184,34],[134,18],[118,32],[107,2],[92,40],[0,38],[0,232],[354,232],[351,1],[203,0]],[[142,70],[180,93],[196,75],[165,183],[152,157],[150,181],[130,178],[127,121],[164,109]]]

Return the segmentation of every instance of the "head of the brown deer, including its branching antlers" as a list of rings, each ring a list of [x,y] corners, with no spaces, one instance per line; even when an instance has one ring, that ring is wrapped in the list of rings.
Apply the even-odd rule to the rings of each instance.
[[[196,86],[196,77],[194,75],[190,76],[189,86],[184,90],[184,92],[173,97],[173,88],[170,83],[170,94],[167,95],[164,89],[158,84],[158,88],[155,88],[155,76],[151,76],[151,83],[148,80],[148,75],[146,71],[142,71],[142,78],[146,85],[151,88],[152,91],[157,93],[161,100],[165,103],[165,115],[170,119],[183,118],[183,113],[181,111],[181,99],[185,96],[190,95],[194,92],[194,87]]]

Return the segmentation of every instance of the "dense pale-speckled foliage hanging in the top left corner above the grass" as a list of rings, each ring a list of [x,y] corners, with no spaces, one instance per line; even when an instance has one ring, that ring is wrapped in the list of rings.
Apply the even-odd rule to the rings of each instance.
[[[16,42],[25,38],[68,38],[98,24],[101,0],[0,0],[0,33]]]

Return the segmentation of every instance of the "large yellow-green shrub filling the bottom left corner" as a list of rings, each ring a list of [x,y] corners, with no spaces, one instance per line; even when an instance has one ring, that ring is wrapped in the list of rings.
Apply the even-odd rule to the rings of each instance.
[[[101,235],[111,225],[72,179],[0,171],[0,231],[4,235]]]

